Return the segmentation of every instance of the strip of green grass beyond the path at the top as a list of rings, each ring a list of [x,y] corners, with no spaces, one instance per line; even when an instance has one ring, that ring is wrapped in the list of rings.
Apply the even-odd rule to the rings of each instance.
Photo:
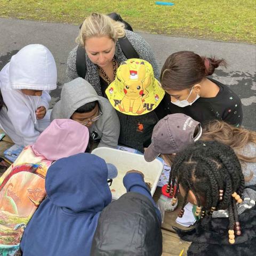
[[[256,42],[255,0],[1,0],[0,16],[78,25],[91,12],[118,12],[135,30],[233,42]]]

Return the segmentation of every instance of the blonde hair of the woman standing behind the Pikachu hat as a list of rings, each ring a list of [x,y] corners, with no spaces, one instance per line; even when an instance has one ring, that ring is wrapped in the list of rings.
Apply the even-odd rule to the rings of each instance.
[[[122,22],[115,21],[105,14],[92,13],[84,20],[76,42],[84,46],[86,39],[103,36],[116,42],[118,38],[125,36],[124,27]]]

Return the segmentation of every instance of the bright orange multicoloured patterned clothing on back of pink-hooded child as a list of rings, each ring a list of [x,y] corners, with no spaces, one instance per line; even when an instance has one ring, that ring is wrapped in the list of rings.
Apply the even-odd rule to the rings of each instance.
[[[0,256],[19,255],[23,231],[46,196],[45,175],[51,164],[28,146],[0,178]]]

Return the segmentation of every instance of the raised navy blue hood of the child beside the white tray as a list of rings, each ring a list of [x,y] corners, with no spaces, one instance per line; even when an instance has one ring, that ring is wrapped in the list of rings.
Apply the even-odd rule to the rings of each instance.
[[[81,153],[62,158],[49,169],[45,190],[51,203],[71,212],[99,212],[111,202],[106,162]]]

